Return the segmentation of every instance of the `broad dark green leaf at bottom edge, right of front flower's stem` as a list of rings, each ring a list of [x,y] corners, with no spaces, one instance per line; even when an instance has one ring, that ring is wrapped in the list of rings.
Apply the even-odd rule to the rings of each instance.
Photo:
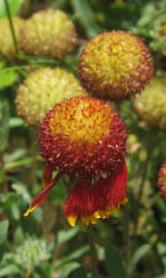
[[[125,277],[124,258],[119,250],[110,245],[105,248],[106,266],[113,278]]]

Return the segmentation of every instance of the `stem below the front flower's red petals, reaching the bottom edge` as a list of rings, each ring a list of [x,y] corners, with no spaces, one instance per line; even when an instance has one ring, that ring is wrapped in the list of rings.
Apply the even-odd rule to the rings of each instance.
[[[90,247],[90,254],[91,254],[91,278],[97,278],[98,271],[97,271],[97,252],[95,247],[95,239],[94,239],[94,232],[92,232],[92,226],[88,226],[88,240],[89,240],[89,247]]]

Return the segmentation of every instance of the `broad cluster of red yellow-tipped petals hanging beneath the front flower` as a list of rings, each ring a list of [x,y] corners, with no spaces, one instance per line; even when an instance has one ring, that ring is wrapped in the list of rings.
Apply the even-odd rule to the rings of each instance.
[[[74,227],[77,218],[84,225],[96,224],[99,218],[108,218],[113,209],[118,210],[125,205],[127,183],[127,167],[125,159],[116,175],[98,178],[94,185],[79,178],[65,205],[65,214]]]

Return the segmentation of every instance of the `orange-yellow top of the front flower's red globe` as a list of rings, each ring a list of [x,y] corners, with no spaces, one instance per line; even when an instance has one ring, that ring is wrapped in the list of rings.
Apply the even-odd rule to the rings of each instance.
[[[68,136],[70,141],[94,143],[110,133],[114,111],[99,100],[75,98],[52,110],[49,127],[53,135]]]

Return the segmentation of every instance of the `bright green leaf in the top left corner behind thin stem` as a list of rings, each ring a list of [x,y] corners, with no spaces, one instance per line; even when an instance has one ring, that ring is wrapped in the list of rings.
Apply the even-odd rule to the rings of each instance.
[[[23,0],[8,0],[8,3],[9,3],[11,16],[16,16],[20,10],[21,4],[23,3]],[[1,0],[0,1],[0,18],[4,18],[4,17],[7,17],[6,7],[4,7],[4,1]]]

